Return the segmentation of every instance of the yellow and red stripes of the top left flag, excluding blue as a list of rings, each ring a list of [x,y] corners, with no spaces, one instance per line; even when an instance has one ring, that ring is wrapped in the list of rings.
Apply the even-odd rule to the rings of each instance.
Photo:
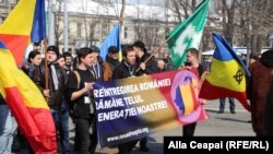
[[[36,0],[20,0],[7,20],[0,25],[0,39],[10,49],[17,66],[29,43]]]

